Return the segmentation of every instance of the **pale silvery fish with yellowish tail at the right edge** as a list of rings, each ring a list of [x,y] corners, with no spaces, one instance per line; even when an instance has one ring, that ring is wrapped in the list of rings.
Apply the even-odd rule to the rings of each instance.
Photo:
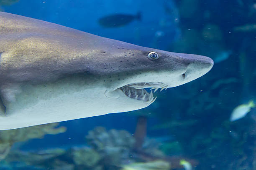
[[[242,104],[237,106],[231,113],[230,121],[233,122],[235,120],[245,117],[246,114],[251,111],[252,107],[255,107],[255,103],[253,102],[253,100],[248,102],[248,104]]]

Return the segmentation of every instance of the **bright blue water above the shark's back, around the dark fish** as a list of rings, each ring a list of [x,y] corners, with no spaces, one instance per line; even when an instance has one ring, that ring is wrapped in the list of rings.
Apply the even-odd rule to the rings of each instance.
[[[158,40],[150,35],[163,31],[165,36],[159,40],[160,44],[158,42],[157,45],[164,45],[166,48],[169,45],[166,41],[172,42],[179,36],[179,28],[173,20],[173,18],[178,18],[178,15],[166,16],[163,10],[164,1],[160,4],[157,0],[151,3],[147,3],[146,0],[138,2],[133,0],[120,2],[115,0],[21,0],[4,9],[8,13],[45,20],[102,37],[144,46],[156,46],[155,43]],[[171,9],[175,8],[172,2],[168,4]],[[118,13],[136,15],[138,12],[142,13],[141,22],[134,21],[122,28],[106,29],[98,24],[98,20],[106,15]],[[159,25],[161,20],[165,21],[168,26]]]

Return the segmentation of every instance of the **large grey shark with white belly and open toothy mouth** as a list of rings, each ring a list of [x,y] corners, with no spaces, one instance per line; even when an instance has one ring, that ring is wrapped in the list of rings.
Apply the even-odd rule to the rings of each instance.
[[[0,130],[138,110],[212,65],[0,12]]]

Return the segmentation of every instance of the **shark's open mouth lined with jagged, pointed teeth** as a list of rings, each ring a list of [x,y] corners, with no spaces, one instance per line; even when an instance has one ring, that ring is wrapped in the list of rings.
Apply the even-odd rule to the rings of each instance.
[[[143,100],[150,105],[156,100],[152,91],[154,90],[154,92],[156,92],[158,89],[161,89],[160,91],[164,89],[166,90],[167,87],[168,85],[165,85],[162,82],[139,82],[120,87],[120,90],[122,90],[126,96],[132,99]],[[148,93],[145,88],[151,88],[150,93]]]

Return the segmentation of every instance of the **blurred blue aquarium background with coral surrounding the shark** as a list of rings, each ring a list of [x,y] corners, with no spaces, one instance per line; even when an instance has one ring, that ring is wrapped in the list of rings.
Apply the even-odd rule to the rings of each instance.
[[[0,0],[0,10],[215,61],[141,110],[0,131],[0,170],[256,170],[255,0]]]

